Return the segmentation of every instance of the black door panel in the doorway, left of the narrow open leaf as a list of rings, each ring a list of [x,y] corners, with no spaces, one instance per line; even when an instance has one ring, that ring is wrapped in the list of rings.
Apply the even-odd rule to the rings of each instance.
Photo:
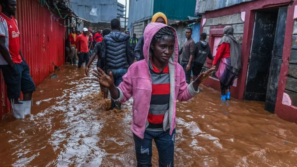
[[[265,101],[278,13],[256,12],[244,99]]]

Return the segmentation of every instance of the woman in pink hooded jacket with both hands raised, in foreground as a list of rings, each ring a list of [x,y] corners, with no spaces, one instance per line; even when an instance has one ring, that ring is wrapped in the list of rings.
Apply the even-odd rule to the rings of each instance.
[[[115,87],[112,73],[100,68],[93,75],[109,88],[111,97],[124,103],[133,97],[131,130],[134,134],[137,166],[152,166],[152,139],[159,152],[159,166],[174,166],[176,100],[187,101],[199,92],[199,84],[211,68],[187,85],[178,61],[176,31],[166,24],[149,23],[144,32],[145,59],[133,63],[123,82]]]

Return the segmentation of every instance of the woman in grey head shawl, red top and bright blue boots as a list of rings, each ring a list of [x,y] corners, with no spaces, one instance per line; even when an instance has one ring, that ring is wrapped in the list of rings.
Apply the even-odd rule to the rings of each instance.
[[[233,37],[233,31],[233,27],[225,26],[224,36],[218,44],[212,63],[215,66],[220,61],[215,75],[221,82],[222,100],[230,99],[230,86],[233,85],[241,68],[241,45]]]

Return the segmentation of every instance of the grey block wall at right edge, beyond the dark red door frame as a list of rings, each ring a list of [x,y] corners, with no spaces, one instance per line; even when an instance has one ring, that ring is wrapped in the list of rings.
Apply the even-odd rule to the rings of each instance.
[[[289,106],[297,106],[297,20],[294,22],[292,35],[292,50],[289,60],[289,71],[285,93],[291,103],[285,103]]]

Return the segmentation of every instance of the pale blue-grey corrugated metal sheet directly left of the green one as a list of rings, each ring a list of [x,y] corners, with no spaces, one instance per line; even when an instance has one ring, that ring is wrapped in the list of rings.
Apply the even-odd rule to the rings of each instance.
[[[150,19],[153,15],[153,4],[154,0],[130,0],[128,27],[141,19]]]

